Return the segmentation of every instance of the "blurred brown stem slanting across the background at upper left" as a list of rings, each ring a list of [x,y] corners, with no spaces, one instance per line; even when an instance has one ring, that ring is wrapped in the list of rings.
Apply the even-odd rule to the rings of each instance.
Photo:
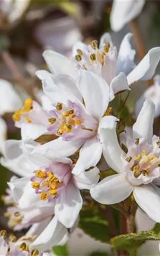
[[[10,69],[14,79],[17,81],[17,85],[19,85],[20,87],[23,87],[23,89],[25,89],[28,92],[31,98],[37,101],[33,90],[29,86],[29,83],[26,82],[26,79],[21,75],[10,53],[6,51],[2,52],[2,58],[6,63],[7,67]]]

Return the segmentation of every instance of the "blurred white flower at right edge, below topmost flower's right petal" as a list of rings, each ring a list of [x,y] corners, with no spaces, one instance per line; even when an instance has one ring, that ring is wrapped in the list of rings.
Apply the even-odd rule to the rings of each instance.
[[[154,77],[154,84],[150,86],[135,103],[135,116],[138,116],[143,102],[149,99],[155,104],[155,117],[160,115],[160,76]]]

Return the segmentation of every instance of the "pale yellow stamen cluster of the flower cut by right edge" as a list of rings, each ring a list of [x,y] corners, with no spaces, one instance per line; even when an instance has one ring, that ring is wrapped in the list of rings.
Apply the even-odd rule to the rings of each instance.
[[[126,161],[130,162],[132,157],[127,157]],[[156,167],[160,167],[160,158],[153,153],[147,154],[146,150],[142,150],[139,155],[134,157],[134,164],[131,171],[134,172],[134,177],[138,178],[141,174],[144,176],[150,175],[151,171]]]

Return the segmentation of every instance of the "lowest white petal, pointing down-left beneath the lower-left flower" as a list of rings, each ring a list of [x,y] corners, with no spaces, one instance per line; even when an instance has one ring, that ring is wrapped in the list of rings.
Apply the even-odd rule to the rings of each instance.
[[[67,228],[58,221],[57,217],[54,217],[29,248],[30,250],[37,249],[40,252],[48,250],[59,244],[66,235],[68,235]]]

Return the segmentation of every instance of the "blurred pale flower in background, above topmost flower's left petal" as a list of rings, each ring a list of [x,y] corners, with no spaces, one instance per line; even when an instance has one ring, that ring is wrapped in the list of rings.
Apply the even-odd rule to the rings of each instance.
[[[34,36],[44,49],[53,49],[70,56],[75,42],[82,39],[81,33],[73,18],[67,16],[40,23]]]

